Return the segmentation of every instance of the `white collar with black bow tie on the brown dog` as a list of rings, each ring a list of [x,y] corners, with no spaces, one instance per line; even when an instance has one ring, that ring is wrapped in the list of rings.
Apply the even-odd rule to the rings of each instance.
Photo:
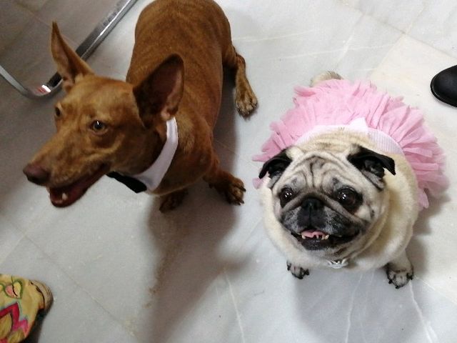
[[[125,184],[135,193],[145,191],[154,192],[154,190],[159,187],[162,179],[164,179],[165,173],[169,170],[171,160],[178,147],[178,142],[178,125],[176,124],[176,119],[173,117],[166,121],[166,141],[164,148],[156,161],[154,161],[148,169],[131,177],[127,177],[118,172],[111,172],[106,175]]]

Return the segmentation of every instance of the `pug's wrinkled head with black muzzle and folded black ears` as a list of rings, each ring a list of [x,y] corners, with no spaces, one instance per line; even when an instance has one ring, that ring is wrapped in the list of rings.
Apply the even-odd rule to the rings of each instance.
[[[316,254],[360,247],[384,211],[384,169],[393,159],[361,146],[303,151],[293,146],[263,165],[273,212],[298,244]]]

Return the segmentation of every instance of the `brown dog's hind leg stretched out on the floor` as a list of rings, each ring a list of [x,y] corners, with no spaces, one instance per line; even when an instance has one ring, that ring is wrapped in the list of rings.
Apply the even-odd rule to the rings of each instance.
[[[229,47],[224,65],[235,71],[236,109],[241,116],[247,117],[256,108],[257,98],[246,77],[246,61],[236,53],[233,45]]]

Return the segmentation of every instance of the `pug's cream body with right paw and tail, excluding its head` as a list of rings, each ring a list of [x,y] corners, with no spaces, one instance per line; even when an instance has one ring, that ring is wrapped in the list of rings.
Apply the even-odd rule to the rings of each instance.
[[[321,74],[313,79],[313,84],[335,75],[338,74],[333,72]],[[390,156],[396,166],[396,175],[386,172],[383,177],[386,184],[385,190],[379,192],[379,196],[376,195],[376,197],[383,197],[382,206],[377,209],[381,215],[372,224],[366,237],[351,243],[353,245],[339,255],[328,256],[306,250],[276,219],[275,202],[272,189],[268,188],[270,182],[268,177],[264,178],[260,189],[266,232],[273,244],[292,264],[292,272],[297,267],[305,270],[318,267],[329,268],[328,261],[348,259],[349,263],[345,269],[356,271],[387,265],[388,278],[397,287],[401,287],[408,282],[408,278],[412,277],[412,266],[406,257],[405,249],[413,234],[413,224],[418,216],[416,177],[405,157],[379,151],[367,137],[353,131],[335,131],[313,136],[301,146],[289,148],[287,154],[293,160],[299,158],[303,151],[329,150],[332,153],[345,155],[354,144]],[[296,275],[294,272],[293,274]]]

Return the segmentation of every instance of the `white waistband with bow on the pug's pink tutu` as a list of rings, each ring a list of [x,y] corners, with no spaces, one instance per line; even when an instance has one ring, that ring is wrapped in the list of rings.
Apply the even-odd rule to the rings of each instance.
[[[302,144],[318,134],[346,130],[356,131],[368,136],[368,138],[371,139],[371,141],[373,141],[373,143],[376,144],[378,149],[381,149],[381,151],[403,155],[403,149],[401,149],[401,146],[398,145],[398,143],[391,136],[381,130],[369,127],[368,124],[366,124],[365,118],[354,119],[348,125],[316,125],[311,131],[306,132],[306,134],[303,134],[303,136],[298,138],[296,144]]]

